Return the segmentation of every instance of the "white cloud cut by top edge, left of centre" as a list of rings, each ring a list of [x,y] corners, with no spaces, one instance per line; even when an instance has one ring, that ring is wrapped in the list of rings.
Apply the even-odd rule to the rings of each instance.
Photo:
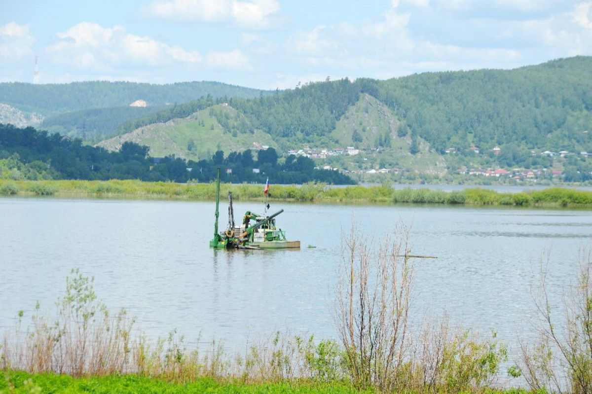
[[[245,28],[266,28],[279,11],[276,0],[156,0],[144,14],[168,20],[231,22]]]

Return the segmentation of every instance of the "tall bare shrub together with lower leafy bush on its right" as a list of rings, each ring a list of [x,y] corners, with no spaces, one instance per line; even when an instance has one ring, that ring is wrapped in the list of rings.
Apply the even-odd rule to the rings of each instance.
[[[410,327],[414,265],[409,231],[376,249],[355,230],[343,240],[336,322],[353,385],[379,392],[456,393],[489,385],[506,348],[447,317]]]

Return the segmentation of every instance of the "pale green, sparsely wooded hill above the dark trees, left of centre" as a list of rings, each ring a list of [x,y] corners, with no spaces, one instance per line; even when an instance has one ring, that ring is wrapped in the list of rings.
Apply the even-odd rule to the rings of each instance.
[[[150,156],[174,154],[184,159],[210,159],[217,150],[225,153],[255,148],[278,148],[269,134],[255,130],[249,120],[229,105],[213,105],[186,118],[155,123],[131,133],[101,141],[98,146],[118,150],[124,142],[150,147]]]

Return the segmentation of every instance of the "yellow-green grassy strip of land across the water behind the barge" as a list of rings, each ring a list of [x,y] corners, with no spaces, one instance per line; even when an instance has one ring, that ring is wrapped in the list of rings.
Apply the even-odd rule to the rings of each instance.
[[[262,197],[261,185],[221,185],[221,193],[233,192],[236,200]],[[140,180],[3,180],[0,195],[63,196],[100,198],[164,198],[213,201],[215,183],[182,184],[141,182]],[[498,193],[488,189],[465,189],[445,192],[430,189],[392,189],[384,186],[348,186],[327,188],[323,183],[301,186],[274,185],[272,200],[300,202],[381,202],[410,204],[465,204],[510,206],[590,207],[592,192],[562,188],[528,190],[520,193]]]

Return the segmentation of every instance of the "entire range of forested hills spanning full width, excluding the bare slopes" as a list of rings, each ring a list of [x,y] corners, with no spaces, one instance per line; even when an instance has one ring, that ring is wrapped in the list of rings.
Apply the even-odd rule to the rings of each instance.
[[[372,141],[384,142],[385,133],[410,136],[409,141],[421,138],[439,154],[448,148],[461,152],[472,146],[482,151],[499,146],[510,156],[530,154],[530,150],[592,151],[592,133],[585,133],[592,130],[592,57],[585,56],[514,70],[433,72],[390,80],[327,80],[275,92],[215,82],[0,83],[0,102],[44,114],[42,127],[52,131],[83,137],[81,130],[86,130],[88,139],[95,142],[114,133],[129,133],[149,124],[188,117],[215,104],[227,104],[236,109],[237,116],[244,117],[245,124],[268,133],[282,148],[303,143],[343,147],[348,141],[335,138],[337,122],[359,102],[362,93],[377,99],[389,112],[386,116],[397,120],[393,122],[395,128],[373,131]],[[121,109],[138,99],[147,102],[146,111]],[[167,104],[163,111],[153,112]],[[47,118],[49,114],[90,108],[101,111]],[[374,127],[358,122],[356,136],[363,134],[362,128]],[[233,135],[233,130],[224,131]],[[382,137],[376,138],[378,134]]]

